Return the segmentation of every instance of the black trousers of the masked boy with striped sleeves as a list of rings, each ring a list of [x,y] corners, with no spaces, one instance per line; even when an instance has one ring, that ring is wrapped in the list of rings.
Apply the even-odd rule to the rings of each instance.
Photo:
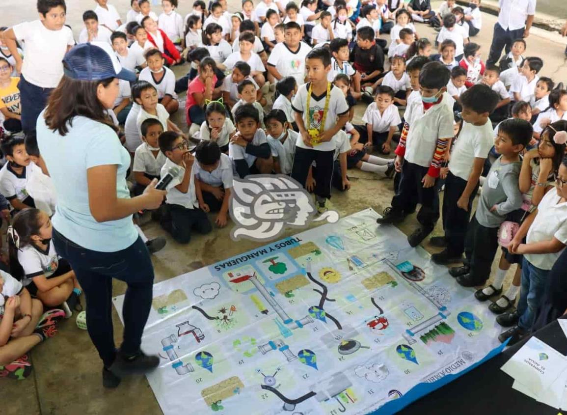
[[[424,188],[421,179],[427,174],[429,167],[419,166],[404,160],[401,167],[401,177],[398,192],[392,198],[392,209],[405,213],[416,210],[417,204],[421,209],[417,213],[417,221],[425,228],[435,226],[439,219],[439,193],[433,185]]]

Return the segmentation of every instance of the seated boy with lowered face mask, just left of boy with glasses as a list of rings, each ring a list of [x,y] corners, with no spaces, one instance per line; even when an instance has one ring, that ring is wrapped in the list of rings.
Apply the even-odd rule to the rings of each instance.
[[[166,163],[166,156],[159,150],[158,137],[163,133],[163,125],[155,118],[147,118],[140,126],[142,130],[142,144],[134,153],[133,193],[138,196],[142,194],[152,180],[160,177],[162,167]]]

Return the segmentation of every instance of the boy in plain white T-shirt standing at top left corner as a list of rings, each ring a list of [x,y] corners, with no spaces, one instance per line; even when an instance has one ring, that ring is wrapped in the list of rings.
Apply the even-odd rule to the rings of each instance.
[[[15,69],[22,74],[18,88],[24,132],[35,129],[37,116],[63,77],[65,53],[75,45],[73,32],[65,26],[64,0],[39,0],[37,11],[39,20],[16,24],[3,33],[3,41],[16,61]],[[16,39],[26,44],[25,60],[18,53]]]

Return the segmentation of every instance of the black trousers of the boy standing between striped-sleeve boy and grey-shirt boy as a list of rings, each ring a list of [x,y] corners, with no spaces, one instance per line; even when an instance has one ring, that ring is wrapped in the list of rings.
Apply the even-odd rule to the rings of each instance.
[[[447,241],[447,252],[451,256],[462,255],[464,252],[464,240],[467,236],[468,223],[472,202],[475,200],[479,190],[479,184],[471,193],[468,200],[468,210],[457,206],[457,201],[467,187],[467,181],[449,172],[445,180],[445,192],[443,193],[443,230]]]

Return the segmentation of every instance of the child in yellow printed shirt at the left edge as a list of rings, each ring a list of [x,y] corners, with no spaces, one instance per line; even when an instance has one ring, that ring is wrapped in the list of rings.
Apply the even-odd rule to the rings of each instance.
[[[11,77],[12,65],[0,58],[0,112],[2,126],[10,133],[22,131],[22,109],[20,108],[20,78]]]

